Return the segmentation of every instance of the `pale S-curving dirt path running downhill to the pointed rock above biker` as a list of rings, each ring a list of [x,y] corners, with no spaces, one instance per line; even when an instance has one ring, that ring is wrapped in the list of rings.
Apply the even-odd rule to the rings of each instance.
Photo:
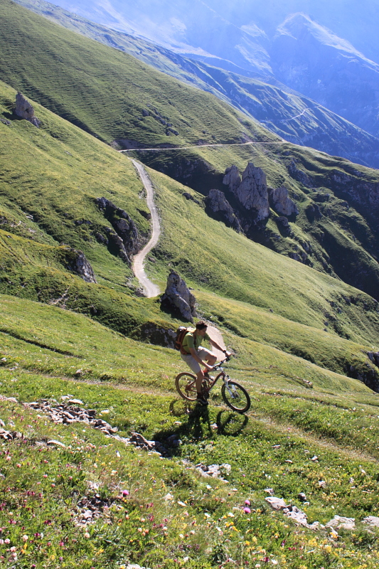
[[[153,249],[159,240],[159,235],[161,235],[161,225],[159,224],[159,216],[158,212],[156,211],[155,203],[154,203],[154,189],[149,179],[149,176],[146,174],[146,170],[142,164],[139,164],[137,160],[132,160],[134,168],[137,170],[139,177],[142,180],[142,184],[144,184],[144,188],[146,190],[146,201],[147,207],[151,213],[151,238],[149,243],[144,246],[144,248],[134,256],[132,270],[134,275],[139,280],[139,284],[144,289],[144,294],[147,298],[157,297],[158,294],[161,292],[157,285],[154,285],[154,282],[148,279],[146,276],[146,272],[144,270],[144,260],[146,255]]]

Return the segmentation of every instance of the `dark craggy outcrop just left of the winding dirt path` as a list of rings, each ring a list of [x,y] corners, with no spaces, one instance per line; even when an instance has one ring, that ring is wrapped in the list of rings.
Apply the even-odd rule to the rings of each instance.
[[[96,203],[104,217],[112,225],[112,229],[106,229],[108,247],[111,252],[119,255],[124,262],[131,265],[129,255],[137,253],[142,244],[137,225],[126,211],[117,208],[107,198],[97,198]]]

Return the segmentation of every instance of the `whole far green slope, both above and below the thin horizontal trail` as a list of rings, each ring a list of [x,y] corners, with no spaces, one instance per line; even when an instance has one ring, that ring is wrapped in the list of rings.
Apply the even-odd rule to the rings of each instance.
[[[109,142],[118,140],[129,147],[192,142],[191,151],[136,155],[205,196],[212,188],[228,192],[222,183],[227,167],[237,164],[242,174],[247,163],[254,161],[265,171],[270,186],[284,184],[288,188],[297,201],[299,216],[297,223],[290,220],[291,230],[286,235],[278,229],[277,216],[272,213],[266,225],[252,224],[250,238],[378,297],[375,216],[379,186],[374,171],[316,151],[301,154],[213,95],[167,78],[127,54],[64,30],[21,6],[3,6],[8,41],[1,57],[4,74],[11,76],[14,85],[21,83],[38,101]],[[33,58],[28,60],[23,36],[33,44]],[[177,135],[172,132],[176,128]],[[246,139],[272,143],[214,150],[196,144]],[[307,169],[309,164],[311,172],[302,173],[303,166]],[[328,205],[317,203],[319,199],[328,201],[328,196],[319,198],[317,192],[310,191],[320,187],[333,194]],[[232,198],[228,194],[233,202]],[[346,198],[349,209],[343,205]],[[237,205],[233,202],[233,207]],[[311,211],[317,212],[316,217]],[[351,255],[346,256],[347,250]]]

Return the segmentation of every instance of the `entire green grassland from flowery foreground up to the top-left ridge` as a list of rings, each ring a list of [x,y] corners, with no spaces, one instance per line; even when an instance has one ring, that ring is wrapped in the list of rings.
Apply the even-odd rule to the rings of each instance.
[[[379,517],[379,372],[368,357],[379,350],[378,302],[368,294],[374,213],[346,208],[329,182],[350,172],[354,184],[375,184],[378,173],[282,143],[212,95],[9,0],[0,13],[1,566],[376,568],[378,528],[366,520]],[[38,129],[14,115],[17,89]],[[208,408],[179,398],[183,362],[164,338],[188,323],[159,297],[139,296],[131,267],[105,239],[111,222],[97,198],[127,211],[146,243],[144,187],[112,142],[246,137],[270,144],[131,153],[146,165],[161,220],[147,275],[164,292],[178,271],[198,318],[223,334],[228,373],[252,400],[238,415],[217,396]],[[292,159],[314,173],[316,188],[289,176]],[[248,161],[297,200],[290,237],[277,238],[274,212],[265,243],[207,215],[207,189],[214,182],[226,191],[225,168],[242,171]],[[331,195],[311,223],[316,191]],[[288,256],[305,242],[314,250],[308,264]],[[96,282],[73,269],[79,252]],[[354,278],[363,274],[360,288]],[[166,456],[26,405],[66,398],[119,437],[160,442]],[[199,464],[217,464],[221,477],[204,477]],[[273,511],[270,494],[319,523]],[[327,526],[334,516],[354,519],[354,528]]]

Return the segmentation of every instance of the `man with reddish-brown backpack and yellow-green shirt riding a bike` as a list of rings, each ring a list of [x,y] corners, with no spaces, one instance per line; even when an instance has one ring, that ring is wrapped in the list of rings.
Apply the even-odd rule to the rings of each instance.
[[[186,362],[187,366],[191,368],[193,373],[196,373],[196,391],[198,393],[196,401],[201,405],[208,405],[208,401],[203,398],[203,395],[201,394],[203,379],[209,377],[208,371],[212,369],[217,360],[214,353],[201,346],[201,342],[203,339],[208,340],[216,350],[220,350],[225,353],[225,355],[228,355],[226,350],[221,348],[217,342],[210,339],[207,334],[207,328],[208,325],[205,324],[205,322],[199,321],[196,324],[196,329],[194,331],[188,331],[186,336],[184,336],[181,350],[182,360]],[[201,366],[204,366],[204,371],[201,369]]]

